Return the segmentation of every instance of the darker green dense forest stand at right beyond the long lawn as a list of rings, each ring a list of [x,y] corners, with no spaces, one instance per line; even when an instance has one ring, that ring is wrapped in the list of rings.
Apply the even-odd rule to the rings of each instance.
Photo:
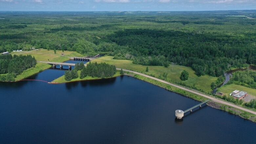
[[[173,62],[192,67],[199,76],[220,76],[229,68],[256,64],[256,40],[249,35],[126,29],[112,34],[110,40],[123,46],[112,53],[116,59],[155,66]]]

